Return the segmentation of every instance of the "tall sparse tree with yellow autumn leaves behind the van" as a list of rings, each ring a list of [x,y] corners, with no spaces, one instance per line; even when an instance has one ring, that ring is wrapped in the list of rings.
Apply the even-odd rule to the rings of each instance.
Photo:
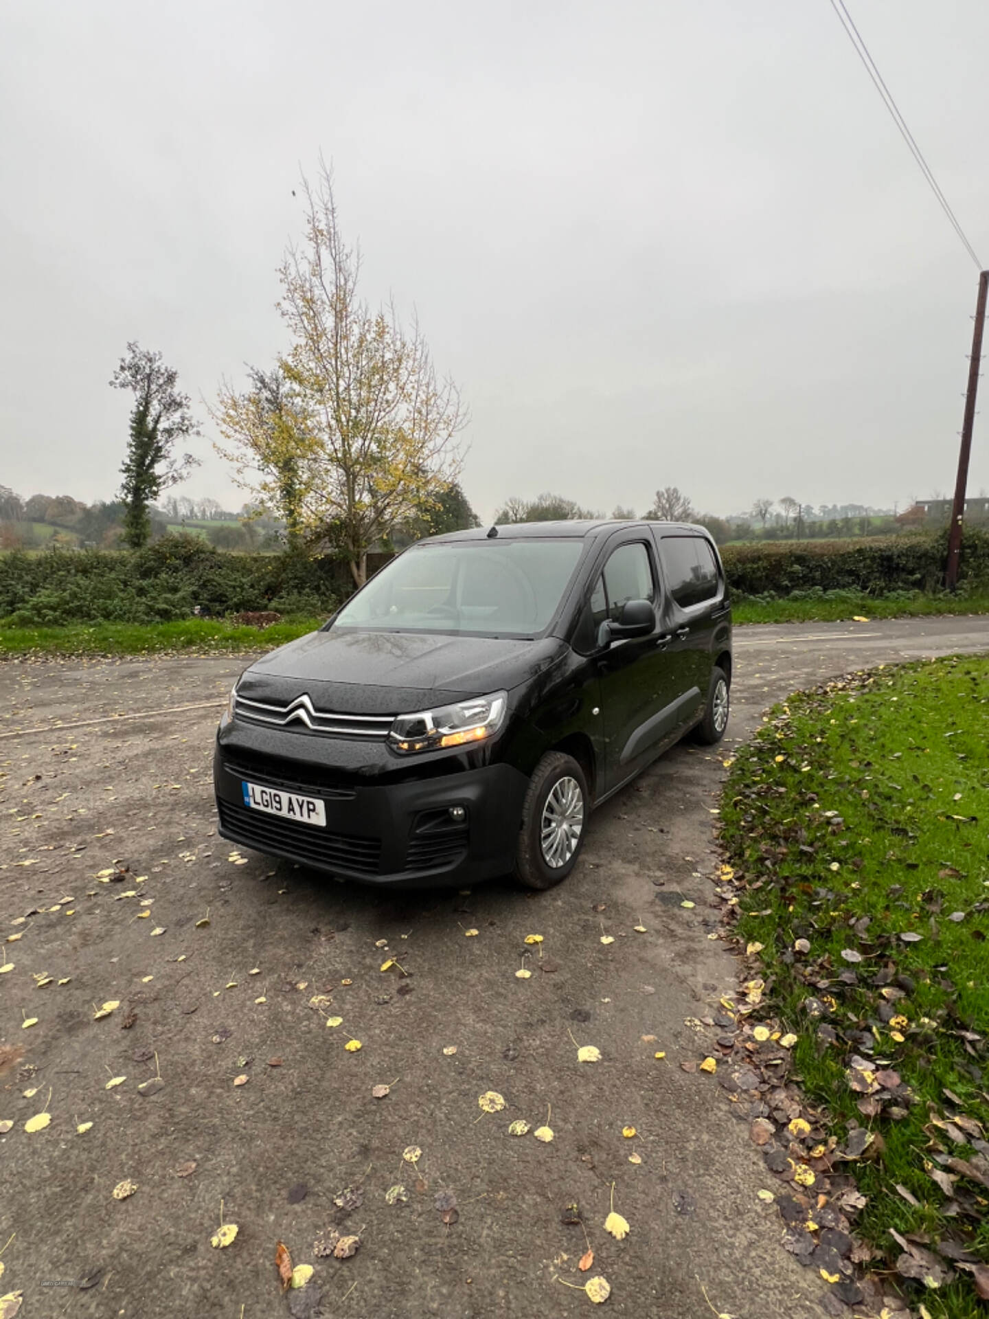
[[[360,255],[343,240],[326,166],[302,194],[305,240],[278,270],[291,346],[273,372],[252,369],[247,390],[222,384],[216,448],[290,543],[332,549],[363,586],[368,551],[456,480],[467,414],[418,322],[406,328],[393,305],[359,297]]]

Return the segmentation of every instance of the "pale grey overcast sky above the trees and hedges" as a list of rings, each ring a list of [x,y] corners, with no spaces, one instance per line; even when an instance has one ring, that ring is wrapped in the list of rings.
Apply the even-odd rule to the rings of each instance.
[[[989,262],[989,5],[848,7]],[[203,419],[270,363],[320,150],[365,295],[415,307],[463,389],[483,517],[953,488],[976,268],[828,0],[5,0],[0,142],[22,495],[112,496],[128,339]],[[239,505],[198,443],[179,489]]]

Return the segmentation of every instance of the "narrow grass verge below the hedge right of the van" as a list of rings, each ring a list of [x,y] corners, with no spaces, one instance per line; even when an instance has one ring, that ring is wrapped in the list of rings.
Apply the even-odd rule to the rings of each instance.
[[[856,591],[807,591],[789,596],[733,596],[736,623],[841,623],[861,619],[913,619],[932,613],[989,613],[989,591],[977,595],[924,595],[893,591],[866,595]]]

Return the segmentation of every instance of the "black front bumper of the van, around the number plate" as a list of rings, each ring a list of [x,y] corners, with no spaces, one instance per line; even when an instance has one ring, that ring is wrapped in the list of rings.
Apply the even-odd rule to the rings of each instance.
[[[272,740],[270,758],[255,731],[249,749],[218,740],[214,786],[222,838],[336,878],[388,888],[473,884],[510,872],[529,786],[520,770],[494,764],[439,777],[361,782],[360,776],[327,773],[318,760],[287,762],[277,754],[289,747],[301,751],[311,745],[309,739],[282,732]],[[324,752],[326,740],[320,743]],[[326,827],[245,806],[245,780],[318,797]],[[463,823],[450,818],[452,806],[463,807]]]

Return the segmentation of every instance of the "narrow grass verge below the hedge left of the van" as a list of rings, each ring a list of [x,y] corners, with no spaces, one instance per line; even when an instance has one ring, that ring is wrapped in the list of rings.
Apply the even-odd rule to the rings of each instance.
[[[0,628],[0,658],[29,654],[135,656],[191,650],[273,650],[322,627],[322,619],[284,619],[244,628],[223,619],[178,623],[78,623],[65,628]]]

